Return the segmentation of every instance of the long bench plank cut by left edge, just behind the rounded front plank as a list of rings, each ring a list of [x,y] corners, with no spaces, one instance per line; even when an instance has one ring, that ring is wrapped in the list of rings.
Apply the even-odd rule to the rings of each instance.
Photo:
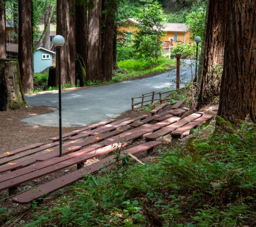
[[[128,143],[122,144],[122,146],[127,146],[127,145],[128,145]],[[114,144],[113,146],[110,145],[110,146],[102,147],[102,148],[99,148],[98,150],[95,150],[93,152],[89,152],[88,154],[80,155],[79,157],[72,158],[70,160],[60,162],[56,165],[52,165],[52,166],[49,166],[49,167],[46,167],[46,168],[43,168],[43,169],[39,169],[38,171],[34,171],[32,173],[19,176],[18,178],[14,178],[14,179],[4,181],[0,184],[0,191],[11,188],[11,187],[21,185],[22,183],[40,178],[41,176],[45,176],[47,174],[59,171],[61,169],[73,166],[73,165],[78,164],[80,162],[86,162],[88,159],[92,159],[92,158],[95,158],[99,155],[106,154],[110,151],[113,151],[113,150],[115,150],[115,148],[113,148],[113,147],[118,147],[118,146],[120,147],[121,145],[120,144]],[[15,172],[17,172],[17,171],[15,171]]]

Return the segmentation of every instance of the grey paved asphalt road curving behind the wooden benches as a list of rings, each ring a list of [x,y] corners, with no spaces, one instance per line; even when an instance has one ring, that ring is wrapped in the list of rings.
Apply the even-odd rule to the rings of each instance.
[[[191,80],[191,68],[181,67],[181,80]],[[61,93],[62,126],[86,126],[106,118],[114,118],[121,112],[131,109],[132,97],[141,96],[150,91],[167,91],[163,88],[176,84],[176,70],[140,80],[109,84]],[[27,95],[27,105],[59,107],[58,93]],[[139,100],[135,100],[139,102]],[[22,120],[33,125],[59,126],[59,111],[25,118]]]

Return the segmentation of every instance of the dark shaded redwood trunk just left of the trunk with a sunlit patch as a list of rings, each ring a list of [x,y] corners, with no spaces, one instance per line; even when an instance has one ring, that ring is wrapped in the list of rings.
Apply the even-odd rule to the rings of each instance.
[[[84,62],[87,62],[88,19],[86,8],[83,5],[75,6],[75,30],[77,54],[81,56]]]

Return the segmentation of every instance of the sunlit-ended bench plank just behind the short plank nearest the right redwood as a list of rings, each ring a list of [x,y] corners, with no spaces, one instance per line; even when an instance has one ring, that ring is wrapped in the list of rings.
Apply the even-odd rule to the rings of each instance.
[[[178,129],[179,127],[182,127],[183,125],[188,124],[189,122],[192,122],[193,120],[197,119],[200,116],[201,115],[199,115],[198,113],[192,113],[188,117],[185,117],[174,124],[163,127],[163,129],[160,129],[156,132],[149,134],[148,136],[146,136],[146,139],[147,140],[157,140],[157,139],[171,133],[172,131]]]

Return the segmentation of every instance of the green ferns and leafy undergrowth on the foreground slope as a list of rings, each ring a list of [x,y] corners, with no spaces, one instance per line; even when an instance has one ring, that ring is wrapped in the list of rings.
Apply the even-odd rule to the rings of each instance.
[[[112,169],[87,176],[51,209],[34,203],[31,222],[19,226],[252,224],[256,127],[244,122],[234,126],[218,116],[217,122],[210,137],[203,139],[195,131],[185,147],[166,145],[167,152],[145,165],[132,165],[128,157],[120,161],[117,150]]]

